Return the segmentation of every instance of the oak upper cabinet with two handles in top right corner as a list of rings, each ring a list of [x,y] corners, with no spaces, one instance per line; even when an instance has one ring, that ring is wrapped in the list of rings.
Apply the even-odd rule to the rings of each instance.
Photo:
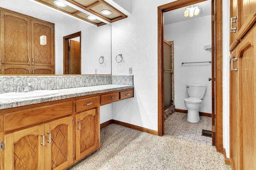
[[[230,51],[256,21],[256,0],[230,0]]]

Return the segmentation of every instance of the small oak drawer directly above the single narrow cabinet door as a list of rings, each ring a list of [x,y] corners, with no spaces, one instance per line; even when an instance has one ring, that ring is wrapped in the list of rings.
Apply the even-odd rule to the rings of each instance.
[[[76,112],[98,107],[98,104],[99,104],[98,97],[76,100]]]

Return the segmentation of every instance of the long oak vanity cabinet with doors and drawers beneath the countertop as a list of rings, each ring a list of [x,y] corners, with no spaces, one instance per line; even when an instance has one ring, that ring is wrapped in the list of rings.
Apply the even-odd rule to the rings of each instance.
[[[0,169],[66,169],[94,152],[100,96],[110,94],[122,100],[133,97],[133,88],[1,110]]]

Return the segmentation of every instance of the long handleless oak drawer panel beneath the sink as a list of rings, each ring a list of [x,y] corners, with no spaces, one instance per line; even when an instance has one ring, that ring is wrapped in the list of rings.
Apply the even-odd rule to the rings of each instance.
[[[57,117],[72,114],[73,102],[36,107],[4,114],[4,131],[26,127]]]

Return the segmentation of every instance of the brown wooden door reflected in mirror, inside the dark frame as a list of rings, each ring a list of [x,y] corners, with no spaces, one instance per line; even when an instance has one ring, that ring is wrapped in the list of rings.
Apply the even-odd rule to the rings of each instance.
[[[70,74],[81,74],[80,42],[70,40]]]

